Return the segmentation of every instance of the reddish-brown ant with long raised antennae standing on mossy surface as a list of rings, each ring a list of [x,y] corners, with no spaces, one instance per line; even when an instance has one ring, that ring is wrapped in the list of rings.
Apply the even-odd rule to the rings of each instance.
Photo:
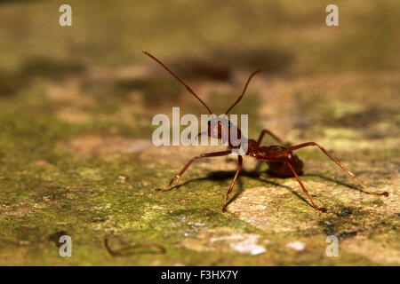
[[[210,114],[212,114],[210,107],[208,107],[204,103],[204,101],[196,95],[196,92],[193,91],[186,83],[184,83],[180,79],[180,77],[175,75],[168,67],[166,67],[164,65],[164,63],[162,63],[159,59],[156,59],[156,57],[154,57],[150,53],[148,53],[146,51],[143,51],[143,53],[146,54],[151,59],[156,60],[156,62],[158,64],[160,64],[162,67],[164,67],[172,76],[174,76],[181,84],[183,84],[185,86],[185,88],[186,88],[186,90],[188,90],[188,92],[190,92],[193,96],[195,96],[196,99],[198,99],[203,104],[203,106],[205,106],[205,108],[207,109],[207,111]],[[239,96],[238,99],[236,99],[236,102],[228,108],[228,110],[226,111],[225,114],[228,114],[229,111],[234,106],[236,106],[237,103],[239,103],[239,101],[243,98],[244,92],[246,91],[247,86],[249,85],[250,81],[252,80],[252,77],[254,75],[256,75],[257,73],[259,73],[260,71],[261,70],[258,69],[256,71],[254,71],[252,73],[252,75],[249,76],[249,78],[247,79],[247,82],[244,85],[244,90],[242,91],[242,94]],[[217,122],[215,122],[215,121],[217,121]],[[228,128],[226,128],[226,127],[223,128],[222,124],[228,125]],[[167,185],[164,188],[158,188],[157,191],[164,192],[164,191],[169,190],[172,187],[172,184],[174,182],[178,182],[178,180],[180,179],[182,174],[186,170],[188,170],[188,167],[196,160],[206,158],[206,157],[217,157],[217,156],[224,156],[224,155],[231,154],[232,149],[234,149],[236,146],[233,146],[233,143],[232,143],[233,141],[231,141],[230,136],[228,135],[230,130],[236,130],[237,131],[236,133],[238,133],[237,137],[239,137],[239,138],[241,137],[241,131],[238,128],[236,128],[236,126],[234,126],[230,121],[228,121],[228,119],[213,118],[212,120],[210,120],[208,122],[208,129],[206,131],[204,131],[205,133],[204,132],[199,133],[198,136],[202,135],[202,134],[207,134],[211,138],[228,138],[228,150],[215,152],[215,153],[207,153],[207,154],[197,155],[196,157],[191,159],[185,165],[185,167],[183,167],[183,169],[180,170],[180,172],[175,177],[172,177],[172,180],[169,183],[169,185]],[[279,142],[281,145],[284,145],[284,146],[260,146],[262,138],[264,137],[265,134],[268,134],[272,138],[275,138],[277,142]],[[269,169],[277,177],[293,177],[293,176],[296,177],[297,181],[299,182],[299,184],[301,186],[301,189],[304,191],[304,193],[307,194],[308,199],[311,201],[314,209],[321,211],[321,212],[326,212],[325,208],[316,206],[316,204],[312,200],[311,196],[308,194],[306,187],[303,185],[303,183],[299,177],[299,174],[301,173],[301,171],[303,169],[303,162],[300,160],[300,158],[297,154],[293,153],[293,151],[298,150],[300,148],[308,147],[308,146],[316,146],[318,149],[320,149],[324,154],[326,154],[329,158],[331,158],[333,160],[333,162],[336,162],[336,164],[338,164],[338,166],[340,166],[340,168],[345,170],[350,177],[353,177],[354,179],[356,179],[357,183],[359,185],[361,185],[364,188],[364,190],[367,191],[368,193],[375,194],[375,195],[384,195],[384,196],[388,197],[387,192],[374,193],[374,192],[370,191],[364,185],[364,183],[358,177],[356,177],[356,175],[354,173],[349,171],[341,162],[339,162],[335,157],[333,157],[332,154],[330,154],[323,146],[320,146],[316,142],[307,142],[307,143],[302,143],[302,144],[299,144],[296,146],[290,146],[289,144],[284,144],[283,141],[280,138],[278,138],[275,134],[273,134],[271,131],[262,130],[260,133],[260,137],[258,138],[257,141],[253,140],[253,139],[247,140],[247,152],[245,154],[252,156],[259,161],[267,162]],[[229,186],[228,193],[225,197],[225,201],[222,206],[222,212],[226,211],[228,196],[229,196],[229,193],[232,191],[233,186],[235,185],[235,181],[236,181],[237,176],[239,175],[240,170],[242,169],[242,163],[243,163],[243,157],[242,157],[242,155],[239,154],[239,155],[237,155],[236,174]]]

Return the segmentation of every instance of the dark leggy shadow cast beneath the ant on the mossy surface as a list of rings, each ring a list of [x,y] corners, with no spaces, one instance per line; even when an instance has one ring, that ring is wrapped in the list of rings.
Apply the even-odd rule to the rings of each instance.
[[[275,185],[276,187],[281,187],[284,188],[286,190],[288,190],[290,193],[292,193],[293,195],[295,195],[297,198],[299,198],[301,201],[305,202],[306,204],[308,204],[308,206],[310,206],[311,208],[314,209],[314,206],[311,204],[310,201],[308,201],[308,199],[304,198],[303,196],[301,196],[299,193],[297,193],[295,190],[292,189],[292,187],[287,186],[287,185],[281,185],[278,184],[274,181],[268,180],[267,178],[263,178],[261,177],[262,174],[267,173],[268,177],[274,177],[274,178],[279,178],[279,179],[288,179],[288,178],[294,178],[294,177],[277,177],[276,175],[274,175],[274,173],[271,170],[260,170],[260,166],[261,166],[262,162],[259,162],[257,164],[257,166],[254,168],[254,170],[241,170],[239,173],[239,176],[236,179],[236,184],[238,185],[238,190],[236,190],[236,193],[229,199],[229,201],[227,202],[227,205],[230,204],[233,201],[236,201],[236,199],[244,192],[244,185],[243,185],[243,180],[241,177],[249,177],[252,179],[256,179],[259,180],[265,184],[268,185]],[[179,185],[174,185],[171,187],[171,189],[169,190],[173,190],[173,189],[178,189],[180,188],[180,186],[184,186],[184,185],[188,185],[190,183],[193,182],[201,182],[201,181],[205,181],[205,180],[213,180],[213,181],[225,181],[228,179],[232,179],[235,176],[236,170],[217,170],[217,171],[212,171],[210,172],[206,177],[197,177],[197,178],[192,178],[189,179],[188,181],[179,184]],[[356,190],[360,193],[365,193],[364,190],[356,187],[356,185],[350,185],[348,183],[342,182],[338,179],[332,178],[332,177],[325,177],[324,175],[321,174],[315,174],[315,173],[310,173],[310,174],[304,174],[304,173],[300,173],[300,177],[319,177],[322,178],[326,181],[332,182],[332,183],[336,183],[338,185],[344,185],[347,186],[350,189]],[[300,186],[300,185],[299,185]]]

